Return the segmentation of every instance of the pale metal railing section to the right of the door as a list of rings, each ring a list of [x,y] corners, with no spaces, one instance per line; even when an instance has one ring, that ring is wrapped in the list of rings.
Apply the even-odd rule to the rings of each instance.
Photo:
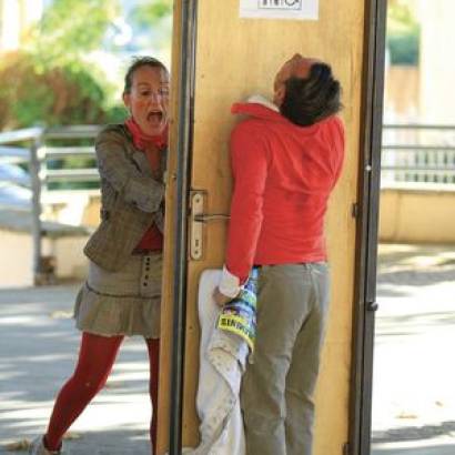
[[[385,124],[382,183],[455,183],[455,125]]]

